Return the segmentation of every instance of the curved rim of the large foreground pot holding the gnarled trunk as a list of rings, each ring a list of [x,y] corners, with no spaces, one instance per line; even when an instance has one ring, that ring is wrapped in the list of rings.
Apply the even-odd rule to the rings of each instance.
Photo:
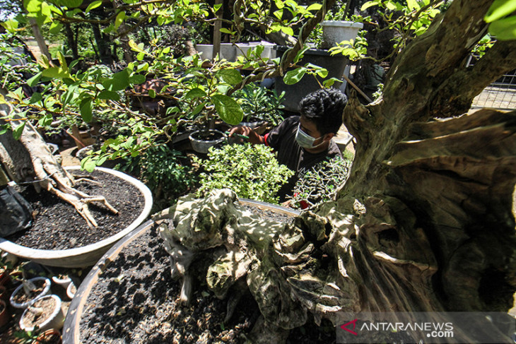
[[[274,208],[274,210],[280,213],[288,213],[293,216],[300,215],[299,210],[276,206],[275,204],[266,203],[262,201],[254,201],[248,198],[238,198],[240,203],[249,204],[257,206],[258,208]],[[122,251],[124,247],[129,244],[131,241],[143,235],[149,228],[155,225],[153,220],[148,220],[146,223],[143,223],[138,228],[134,229],[129,235],[124,237],[124,239],[120,240],[115,244],[109,251],[107,251],[101,259],[93,266],[88,275],[83,280],[83,283],[78,286],[78,289],[75,293],[74,299],[71,300],[70,307],[68,309],[68,313],[64,319],[63,326],[63,344],[72,344],[72,343],[81,343],[79,338],[80,333],[78,331],[79,324],[81,322],[81,316],[83,315],[83,309],[86,306],[86,300],[88,299],[88,295],[93,288],[93,285],[97,283],[98,277],[102,271],[105,270],[107,263],[114,259],[115,255]]]

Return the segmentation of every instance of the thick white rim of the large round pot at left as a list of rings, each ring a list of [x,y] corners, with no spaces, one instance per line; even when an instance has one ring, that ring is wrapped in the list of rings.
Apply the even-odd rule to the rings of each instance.
[[[65,170],[80,170],[80,166],[67,166],[64,167]],[[42,262],[44,264],[47,264],[49,266],[64,266],[64,267],[82,267],[86,266],[86,264],[81,263],[79,265],[74,265],[73,262],[70,262],[71,265],[67,265],[66,262],[64,265],[57,264],[58,261],[66,261],[66,259],[69,259],[73,256],[81,256],[83,254],[89,254],[92,251],[95,251],[97,249],[102,249],[105,247],[109,247],[110,245],[117,242],[119,239],[122,239],[125,235],[127,235],[131,230],[134,230],[134,228],[138,227],[139,224],[145,220],[148,215],[151,213],[152,208],[152,194],[151,190],[148,189],[148,187],[140,182],[138,179],[129,176],[128,174],[125,174],[124,172],[120,172],[117,170],[112,170],[110,168],[106,167],[95,167],[95,170],[99,170],[102,172],[106,172],[109,174],[113,174],[121,179],[124,179],[126,182],[129,182],[136,186],[137,189],[141,192],[144,198],[144,204],[143,204],[143,210],[141,211],[138,218],[136,218],[129,226],[125,227],[123,230],[118,232],[115,235],[112,235],[111,237],[107,237],[105,239],[100,240],[99,242],[95,242],[93,244],[88,244],[83,247],[74,247],[73,249],[57,249],[57,250],[50,250],[50,249],[32,249],[30,247],[23,247],[21,245],[15,244],[13,242],[8,241],[7,239],[4,239],[3,237],[0,237],[0,249],[2,251],[7,251],[11,254],[14,254],[15,256],[29,259],[33,261],[39,260],[39,262]],[[96,261],[96,259],[95,259]],[[93,265],[95,262],[93,262],[90,265]]]

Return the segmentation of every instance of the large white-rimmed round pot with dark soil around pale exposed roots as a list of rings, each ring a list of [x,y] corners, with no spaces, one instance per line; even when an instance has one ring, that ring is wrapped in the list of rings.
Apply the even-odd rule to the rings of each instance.
[[[104,167],[91,173],[80,167],[65,167],[72,174],[93,177],[97,184],[80,182],[77,188],[104,196],[117,210],[92,205],[90,211],[98,227],[88,227],[73,206],[54,195],[35,194],[25,189],[24,197],[36,210],[32,227],[6,238],[0,237],[0,249],[20,258],[46,266],[81,268],[93,266],[105,252],[145,220],[152,208],[151,191],[138,179]],[[32,193],[31,193],[32,191]]]

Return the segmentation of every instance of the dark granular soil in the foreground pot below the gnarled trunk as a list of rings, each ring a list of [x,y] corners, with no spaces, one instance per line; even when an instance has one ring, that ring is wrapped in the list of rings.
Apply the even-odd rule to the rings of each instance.
[[[181,281],[172,280],[169,256],[153,226],[99,275],[81,316],[81,343],[244,343],[259,317],[249,292],[224,322],[228,300],[215,297],[204,281],[194,285],[189,305],[180,304],[180,291]],[[287,343],[335,343],[335,328],[308,321],[291,331]]]

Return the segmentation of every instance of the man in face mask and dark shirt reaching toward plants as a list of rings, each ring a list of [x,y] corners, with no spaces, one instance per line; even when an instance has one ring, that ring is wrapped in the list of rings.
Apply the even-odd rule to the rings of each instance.
[[[242,134],[249,142],[265,144],[276,150],[278,162],[295,171],[295,175],[278,192],[284,201],[291,194],[300,174],[327,158],[342,156],[332,140],[342,124],[346,95],[334,88],[317,90],[300,102],[300,116],[291,116],[265,136],[247,126],[236,126],[230,136]]]

